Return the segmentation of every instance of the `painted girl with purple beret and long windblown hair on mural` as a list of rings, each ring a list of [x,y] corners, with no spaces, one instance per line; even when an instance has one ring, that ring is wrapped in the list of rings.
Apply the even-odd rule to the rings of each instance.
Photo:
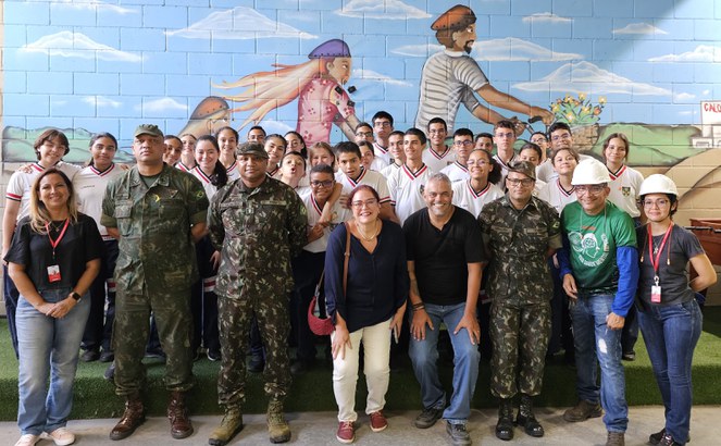
[[[348,82],[352,61],[348,45],[340,39],[327,40],[308,54],[308,62],[298,65],[274,64],[278,70],[249,74],[238,82],[216,85],[231,89],[246,87],[238,95],[225,99],[245,102],[233,111],[253,112],[240,128],[251,121],[260,122],[271,110],[283,107],[298,98],[298,124],[296,132],[306,144],[328,143],[332,125],[335,124],[353,139],[358,124],[353,101],[343,85]]]

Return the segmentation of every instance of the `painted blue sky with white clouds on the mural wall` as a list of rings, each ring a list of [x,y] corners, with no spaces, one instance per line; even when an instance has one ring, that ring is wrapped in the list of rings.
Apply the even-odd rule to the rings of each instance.
[[[132,3],[4,1],[4,125],[109,131],[123,140],[140,122],[177,133],[200,100],[223,94],[212,84],[304,62],[319,44],[341,38],[353,55],[348,85],[358,89],[359,117],[383,109],[406,128],[423,63],[442,48],[431,24],[458,1]],[[717,1],[463,4],[477,16],[471,55],[496,88],[529,103],[585,92],[607,98],[602,123],[700,124],[699,102],[721,97]],[[261,125],[285,132],[296,117],[291,102]],[[465,111],[462,125],[488,127]]]

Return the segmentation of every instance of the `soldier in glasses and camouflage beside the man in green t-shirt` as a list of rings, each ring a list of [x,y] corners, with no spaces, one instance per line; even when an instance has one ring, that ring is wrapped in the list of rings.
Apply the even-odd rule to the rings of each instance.
[[[540,393],[550,336],[552,283],[547,259],[561,247],[558,212],[532,196],[535,168],[526,161],[509,166],[506,196],[478,215],[490,259],[486,290],[490,308],[490,392],[500,398],[496,436],[513,437],[512,398],[521,393],[515,422],[543,436],[531,398]]]

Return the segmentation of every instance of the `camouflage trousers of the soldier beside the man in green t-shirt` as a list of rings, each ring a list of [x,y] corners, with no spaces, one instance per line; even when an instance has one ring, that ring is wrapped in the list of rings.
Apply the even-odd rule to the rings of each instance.
[[[490,306],[490,393],[512,398],[540,394],[550,336],[550,303]]]

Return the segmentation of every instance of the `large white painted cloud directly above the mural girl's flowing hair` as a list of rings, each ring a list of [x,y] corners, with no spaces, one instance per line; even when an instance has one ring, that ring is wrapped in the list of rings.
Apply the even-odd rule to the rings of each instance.
[[[232,10],[213,12],[206,18],[194,23],[187,28],[165,32],[169,36],[188,39],[247,40],[256,38],[301,38],[314,39],[318,36],[303,33],[285,23],[276,22],[258,11],[236,7]]]

